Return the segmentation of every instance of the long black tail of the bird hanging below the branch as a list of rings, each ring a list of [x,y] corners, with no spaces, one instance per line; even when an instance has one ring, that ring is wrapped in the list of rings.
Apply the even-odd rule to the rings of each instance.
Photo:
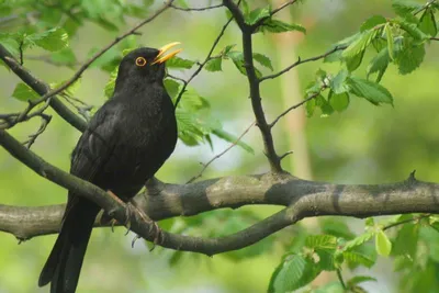
[[[58,238],[40,274],[38,286],[52,282],[50,293],[74,293],[78,284],[87,245],[100,207],[75,196],[67,207]]]

